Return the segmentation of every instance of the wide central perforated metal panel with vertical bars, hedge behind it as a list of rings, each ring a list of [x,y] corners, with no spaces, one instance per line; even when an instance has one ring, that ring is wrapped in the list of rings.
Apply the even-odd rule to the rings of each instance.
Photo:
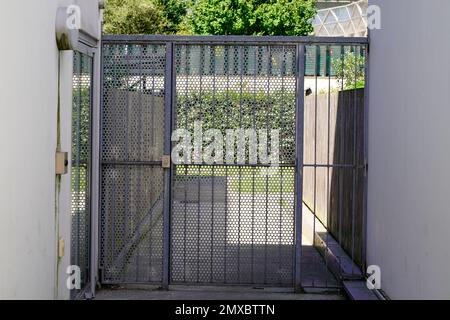
[[[174,129],[198,121],[224,144],[226,130],[278,129],[282,167],[225,152],[224,165],[175,167],[172,282],[293,285],[295,61],[295,46],[176,45]]]

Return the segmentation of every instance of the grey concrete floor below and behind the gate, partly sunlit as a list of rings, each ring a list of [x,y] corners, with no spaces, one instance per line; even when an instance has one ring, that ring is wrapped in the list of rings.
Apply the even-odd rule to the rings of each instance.
[[[217,188],[216,188],[217,189]],[[233,195],[231,193],[231,195]],[[293,202],[292,199],[288,199],[289,195],[284,195],[284,200]],[[272,197],[275,197],[272,199]],[[197,198],[197,196],[195,197]],[[233,199],[241,199],[244,203],[251,202],[252,199],[247,199],[246,196],[235,195],[235,197],[230,197],[231,200],[229,202],[233,203]],[[254,197],[258,200],[258,197]],[[270,195],[269,197],[271,202],[278,203],[279,199],[274,195]],[[278,199],[278,200],[277,200]],[[248,200],[248,201],[247,201]],[[265,203],[265,197],[262,200],[256,201],[256,203]],[[202,206],[202,215],[198,215],[198,205],[187,203],[181,205],[178,208],[178,202],[174,202],[174,221],[176,222],[178,219],[178,215],[182,217],[188,216],[188,221],[194,221],[192,223],[193,229],[188,230],[188,234],[194,235],[194,237],[190,237],[189,241],[187,241],[186,252],[181,250],[183,247],[177,248],[176,246],[173,248],[172,255],[172,279],[177,283],[190,283],[190,282],[211,282],[211,283],[220,283],[219,280],[224,279],[224,275],[222,274],[224,271],[224,257],[220,255],[223,252],[223,244],[227,245],[227,282],[228,283],[271,283],[273,285],[282,286],[284,284],[291,284],[292,279],[292,253],[293,253],[293,243],[292,243],[292,225],[293,225],[293,216],[287,212],[284,214],[282,209],[272,210],[267,215],[269,226],[273,227],[273,230],[269,228],[270,235],[279,235],[280,223],[282,224],[282,230],[288,230],[287,235],[285,236],[287,240],[285,242],[279,242],[279,237],[265,238],[264,232],[256,232],[253,233],[252,228],[248,228],[248,226],[255,226],[255,223],[252,220],[254,216],[251,211],[251,206],[249,209],[241,208],[241,210],[237,210],[239,208],[238,204],[231,206],[231,209],[228,211],[228,215],[223,213],[220,215],[220,206],[216,206],[215,210],[215,221],[219,222],[219,225],[222,228],[216,226],[214,229],[214,237],[210,235],[211,227],[208,227],[202,232],[198,232],[197,224],[198,219],[201,220],[201,225],[210,226],[212,221],[211,210],[206,210],[205,205]],[[189,210],[186,210],[189,209]],[[233,209],[234,208],[234,209]],[[250,211],[249,211],[250,210]],[[280,211],[281,210],[281,211]],[[177,214],[179,212],[179,214]],[[241,213],[240,215],[238,213]],[[264,211],[265,212],[265,211]],[[280,213],[281,212],[281,213]],[[194,214],[194,217],[190,217],[188,214]],[[223,232],[223,225],[225,222],[221,221],[220,218],[223,216],[228,216],[228,221],[241,221],[241,226],[239,228],[241,239],[237,242],[238,239],[236,230],[238,229],[234,225],[228,225],[227,233]],[[285,217],[284,217],[285,216]],[[200,218],[199,218],[200,217]],[[284,217],[281,219],[280,217]],[[195,219],[194,219],[195,218]],[[277,220],[278,219],[278,220]],[[339,282],[336,278],[331,274],[328,270],[327,265],[324,260],[320,256],[319,252],[313,246],[313,236],[315,232],[321,231],[321,224],[314,223],[314,215],[312,212],[308,210],[306,206],[303,207],[303,230],[302,230],[302,265],[301,265],[301,274],[302,274],[302,285],[305,288],[305,291],[309,294],[294,294],[288,289],[252,289],[251,287],[223,287],[223,286],[172,286],[170,291],[162,291],[159,290],[158,287],[136,287],[127,286],[126,288],[121,287],[105,287],[103,290],[99,291],[97,299],[105,300],[105,299],[130,299],[130,300],[203,300],[203,299],[247,299],[247,300],[315,300],[315,299],[342,299],[343,296],[336,294],[339,292]],[[266,219],[260,219],[265,223]],[[256,219],[258,221],[258,219]],[[228,222],[229,223],[229,222]],[[216,223],[217,224],[217,223]],[[284,225],[283,225],[284,224]],[[175,223],[177,226],[178,224]],[[234,227],[234,228],[233,228]],[[256,223],[256,227],[258,224]],[[259,226],[260,228],[256,228],[257,230],[264,230],[264,226]],[[181,230],[181,231],[180,231]],[[222,230],[222,232],[221,232]],[[180,233],[181,232],[181,233]],[[172,236],[179,242],[183,243],[186,241],[186,238],[183,238],[183,228],[175,228]],[[185,236],[184,236],[185,237]],[[206,241],[204,241],[206,239]],[[199,247],[198,241],[202,240],[203,245],[202,252],[199,255]],[[214,240],[214,241],[212,241]],[[253,240],[253,242],[252,242]],[[141,241],[142,243],[152,243],[152,241]],[[159,243],[159,242],[158,242]],[[251,245],[251,246],[250,246]],[[261,247],[262,245],[262,247]],[[233,250],[234,247],[239,246],[239,256],[238,258],[234,257],[237,251]],[[272,248],[273,247],[273,248]],[[189,251],[188,249],[191,249]],[[251,250],[249,251],[249,249]],[[141,250],[137,250],[142,256],[138,256],[140,259],[129,259],[130,263],[126,265],[124,275],[116,280],[121,280],[122,282],[129,281],[133,282],[141,282],[145,283],[149,281],[149,279],[159,279],[160,274],[157,273],[152,278],[149,276],[149,272],[154,270],[161,270],[162,264],[162,256],[158,255],[157,259],[154,257],[152,260],[152,266],[149,266],[149,257],[148,252],[150,250],[146,248],[141,248]],[[262,251],[261,251],[262,250]],[[274,252],[272,252],[274,250]],[[235,252],[236,251],[236,252]],[[213,253],[215,255],[213,255]],[[267,261],[262,259],[267,254]],[[185,259],[183,259],[185,257]],[[214,258],[214,259],[213,259]],[[246,258],[246,259],[243,259]],[[200,260],[199,260],[200,259]],[[262,259],[262,260],[261,260]],[[186,262],[184,262],[185,260]],[[205,261],[204,261],[205,260]],[[186,265],[183,267],[184,262]],[[199,263],[199,261],[201,263]],[[240,262],[240,269],[236,269],[236,261]],[[250,261],[250,262],[249,262]],[[212,264],[211,264],[212,263]],[[209,267],[211,264],[211,267]],[[199,274],[201,274],[201,278],[198,279],[198,266],[206,265],[207,268],[201,268]],[[158,268],[154,268],[157,266]],[[267,269],[267,270],[266,270]],[[262,275],[265,275],[265,271],[267,271],[268,277],[265,278]],[[180,273],[181,272],[181,273]],[[237,277],[239,274],[240,277]],[[139,278],[139,275],[141,278]],[[151,274],[150,274],[151,275]],[[184,279],[183,275],[186,277]],[[262,278],[261,278],[262,277]],[[184,279],[184,281],[183,281]],[[111,279],[110,279],[111,280]],[[112,279],[114,280],[114,279]],[[238,280],[241,280],[238,281]],[[112,281],[114,282],[114,281]],[[327,292],[327,294],[323,294]],[[332,293],[331,293],[332,292]],[[311,294],[318,293],[318,294]],[[328,294],[330,293],[330,294]]]

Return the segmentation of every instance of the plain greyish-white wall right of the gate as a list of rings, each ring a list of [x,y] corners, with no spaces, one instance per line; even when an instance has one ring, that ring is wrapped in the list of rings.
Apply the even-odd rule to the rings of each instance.
[[[368,262],[393,299],[450,299],[450,1],[370,4]]]

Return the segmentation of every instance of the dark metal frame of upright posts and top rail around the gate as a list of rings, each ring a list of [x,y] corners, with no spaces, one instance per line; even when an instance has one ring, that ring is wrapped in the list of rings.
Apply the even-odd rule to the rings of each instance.
[[[299,194],[303,194],[303,145],[304,145],[304,79],[305,79],[305,48],[308,45],[323,45],[323,46],[366,46],[366,60],[365,60],[365,77],[366,86],[364,89],[364,161],[366,167],[366,174],[364,176],[364,199],[363,199],[363,259],[366,263],[366,238],[367,238],[367,169],[368,169],[368,75],[369,75],[369,37],[315,37],[315,36],[178,36],[178,35],[103,35],[100,43],[100,117],[98,119],[98,128],[100,141],[98,144],[98,183],[97,189],[91,190],[91,193],[98,194],[98,197],[93,199],[97,203],[93,203],[92,206],[98,208],[98,212],[101,212],[101,154],[102,154],[102,114],[103,114],[103,45],[104,44],[141,44],[141,45],[165,45],[166,46],[166,61],[165,61],[165,128],[164,128],[164,154],[170,155],[172,150],[171,133],[174,123],[174,106],[175,103],[175,72],[174,72],[174,45],[290,45],[296,46],[296,66],[297,66],[297,97],[296,97],[296,158],[295,158],[295,208],[294,208],[294,274],[293,274],[293,288],[295,292],[302,292],[301,284],[301,262],[302,262],[302,208],[303,197]],[[301,121],[300,121],[301,120]],[[173,178],[174,164],[171,162],[170,168],[164,169],[164,206],[163,206],[163,274],[162,274],[162,286],[168,290],[170,285],[170,247],[171,247],[171,185]],[[97,238],[91,237],[92,246],[95,247],[97,243],[101,241],[100,231],[100,214],[96,215],[98,233]],[[100,267],[100,255],[99,250],[95,252],[95,262],[97,263],[99,272]],[[94,273],[94,271],[93,271]],[[101,281],[101,277],[97,277]]]

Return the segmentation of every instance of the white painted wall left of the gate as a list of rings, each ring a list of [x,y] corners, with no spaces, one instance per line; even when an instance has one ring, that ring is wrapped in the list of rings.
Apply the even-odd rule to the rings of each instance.
[[[83,12],[95,10],[82,27],[98,37],[95,2],[77,1]],[[68,3],[1,5],[0,299],[69,297],[62,270],[70,260],[70,175],[62,177],[57,192],[54,160],[59,57],[62,150],[70,151],[71,144],[72,53],[60,56],[55,42],[56,10]],[[58,233],[66,241],[61,261]]]

